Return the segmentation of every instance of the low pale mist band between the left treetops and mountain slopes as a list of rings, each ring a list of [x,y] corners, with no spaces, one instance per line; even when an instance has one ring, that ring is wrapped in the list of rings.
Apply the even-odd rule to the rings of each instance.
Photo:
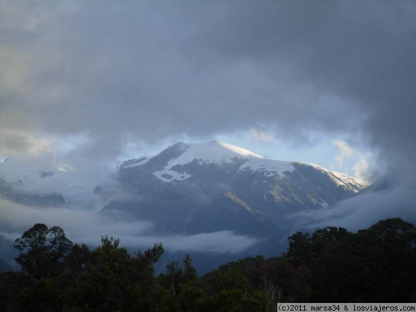
[[[89,245],[98,245],[105,234],[120,239],[121,245],[128,248],[143,249],[163,243],[164,248],[172,252],[236,254],[258,243],[257,239],[236,235],[232,231],[160,235],[153,232],[150,222],[135,220],[123,214],[103,216],[94,211],[26,207],[0,199],[1,236],[10,242],[14,241],[35,223],[60,226],[74,243]]]

